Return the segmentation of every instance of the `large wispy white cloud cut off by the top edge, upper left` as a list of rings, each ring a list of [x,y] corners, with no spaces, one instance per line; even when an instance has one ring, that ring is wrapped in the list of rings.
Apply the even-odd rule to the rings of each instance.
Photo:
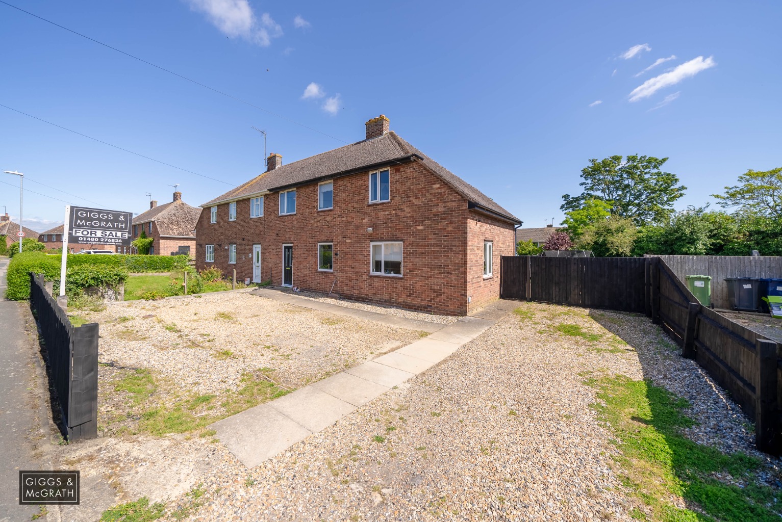
[[[229,37],[241,37],[266,47],[271,38],[282,36],[282,27],[269,13],[256,19],[248,0],[185,0],[194,11],[206,14],[217,29]]]

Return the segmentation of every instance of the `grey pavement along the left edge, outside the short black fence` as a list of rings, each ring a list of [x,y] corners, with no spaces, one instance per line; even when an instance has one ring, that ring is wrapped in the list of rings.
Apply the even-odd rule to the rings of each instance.
[[[48,446],[48,412],[38,395],[36,347],[25,333],[27,302],[5,300],[8,263],[0,258],[0,522],[30,520],[39,513],[38,506],[19,505],[19,471],[51,469],[42,454]]]

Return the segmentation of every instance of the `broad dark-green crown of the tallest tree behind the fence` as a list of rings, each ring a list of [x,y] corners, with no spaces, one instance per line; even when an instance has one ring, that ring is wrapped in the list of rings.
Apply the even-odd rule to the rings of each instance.
[[[676,174],[660,170],[666,161],[637,155],[590,159],[590,165],[581,170],[582,194],[562,195],[565,202],[560,209],[583,209],[588,200],[601,199],[611,205],[612,215],[630,217],[639,225],[662,221],[687,190],[678,184]]]

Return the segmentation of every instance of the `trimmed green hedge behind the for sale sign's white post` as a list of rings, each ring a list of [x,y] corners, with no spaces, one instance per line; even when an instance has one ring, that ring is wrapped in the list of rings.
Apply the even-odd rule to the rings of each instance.
[[[44,274],[46,281],[55,281],[59,288],[59,268],[61,255],[51,256],[43,252],[22,252],[13,256],[8,265],[5,299],[22,301],[30,299],[30,272]],[[104,284],[116,284],[124,281],[128,272],[170,272],[182,270],[188,265],[188,256],[127,256],[99,254],[70,254],[68,256],[68,274],[74,274],[78,281],[104,281]],[[91,270],[92,269],[92,270]],[[124,274],[124,275],[123,275]],[[75,282],[75,281],[74,281]],[[89,284],[88,286],[100,286]],[[66,291],[75,287],[67,284]]]

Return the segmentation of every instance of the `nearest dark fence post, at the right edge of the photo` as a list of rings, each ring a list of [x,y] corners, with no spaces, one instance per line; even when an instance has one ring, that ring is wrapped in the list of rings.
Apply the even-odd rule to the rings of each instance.
[[[755,387],[755,446],[766,453],[779,455],[777,447],[777,343],[768,339],[755,341],[758,354],[758,379]]]

